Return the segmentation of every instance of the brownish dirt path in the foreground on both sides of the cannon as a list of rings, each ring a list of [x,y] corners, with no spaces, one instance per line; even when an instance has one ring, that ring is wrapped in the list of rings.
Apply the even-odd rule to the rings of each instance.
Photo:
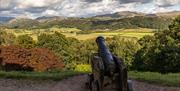
[[[88,91],[87,76],[75,76],[61,81],[40,81],[0,79],[0,91]],[[163,87],[133,81],[134,91],[180,91],[176,87]]]

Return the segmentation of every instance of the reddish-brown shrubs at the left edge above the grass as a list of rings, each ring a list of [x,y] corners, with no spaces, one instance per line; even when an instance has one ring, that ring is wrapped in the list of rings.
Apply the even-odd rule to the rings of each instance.
[[[4,70],[49,71],[62,69],[62,61],[45,48],[25,49],[19,46],[0,46],[0,65]]]

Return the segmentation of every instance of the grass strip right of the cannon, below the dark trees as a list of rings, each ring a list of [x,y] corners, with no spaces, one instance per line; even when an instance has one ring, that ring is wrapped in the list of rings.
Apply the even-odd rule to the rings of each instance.
[[[157,72],[129,71],[129,78],[153,84],[180,87],[180,73],[161,74]]]

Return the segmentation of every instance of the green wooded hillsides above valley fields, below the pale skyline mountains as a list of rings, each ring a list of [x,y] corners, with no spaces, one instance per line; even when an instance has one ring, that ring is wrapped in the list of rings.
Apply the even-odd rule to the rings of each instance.
[[[147,17],[135,16],[122,19],[99,20],[93,18],[68,18],[63,20],[49,20],[39,22],[32,19],[13,19],[8,24],[9,28],[51,28],[53,26],[60,28],[78,28],[81,30],[116,30],[121,28],[152,28],[152,29],[167,29],[167,26],[172,22],[171,18],[164,17]]]

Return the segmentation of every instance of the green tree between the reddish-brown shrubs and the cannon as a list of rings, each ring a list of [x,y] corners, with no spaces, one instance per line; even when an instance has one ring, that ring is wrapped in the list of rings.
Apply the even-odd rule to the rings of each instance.
[[[66,38],[64,35],[55,32],[54,34],[41,34],[38,36],[37,47],[48,48],[62,59],[66,69],[75,68],[75,45],[77,39]]]

